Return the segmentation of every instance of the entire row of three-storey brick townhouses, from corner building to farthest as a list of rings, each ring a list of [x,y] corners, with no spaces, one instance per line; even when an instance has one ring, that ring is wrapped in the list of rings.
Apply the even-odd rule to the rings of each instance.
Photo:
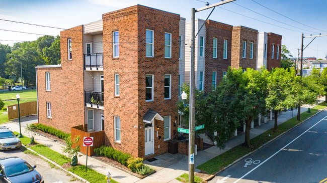
[[[196,87],[211,91],[227,68],[280,67],[282,36],[196,20]],[[150,158],[181,125],[176,102],[189,82],[191,24],[141,5],[60,33],[61,64],[37,66],[39,122],[65,132],[104,131],[104,145]]]

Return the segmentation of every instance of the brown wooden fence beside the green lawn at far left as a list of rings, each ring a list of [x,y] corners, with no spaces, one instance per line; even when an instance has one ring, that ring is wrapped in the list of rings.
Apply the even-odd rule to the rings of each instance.
[[[37,114],[37,102],[25,102],[19,104],[21,117]],[[8,106],[8,120],[18,118],[18,104]]]

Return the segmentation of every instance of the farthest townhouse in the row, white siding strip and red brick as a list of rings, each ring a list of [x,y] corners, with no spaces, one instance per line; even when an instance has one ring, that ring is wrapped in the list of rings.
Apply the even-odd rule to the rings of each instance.
[[[268,71],[280,68],[282,36],[274,33],[260,32],[258,34],[257,69],[265,66]]]

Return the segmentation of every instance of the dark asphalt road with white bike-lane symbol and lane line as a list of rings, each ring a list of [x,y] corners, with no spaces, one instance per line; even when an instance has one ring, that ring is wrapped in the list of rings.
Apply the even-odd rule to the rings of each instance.
[[[325,182],[325,178],[327,111],[322,111],[218,173],[210,182]]]

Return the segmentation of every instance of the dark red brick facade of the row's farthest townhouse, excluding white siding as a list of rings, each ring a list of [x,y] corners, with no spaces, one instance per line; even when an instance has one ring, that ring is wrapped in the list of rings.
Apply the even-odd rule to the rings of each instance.
[[[271,71],[272,68],[280,68],[280,57],[282,50],[282,36],[274,33],[268,33],[268,42],[267,42],[267,70]],[[272,45],[274,46],[274,58],[272,59]],[[279,49],[278,49],[279,47]],[[278,49],[278,51],[277,51]],[[278,52],[278,59],[277,59]]]

